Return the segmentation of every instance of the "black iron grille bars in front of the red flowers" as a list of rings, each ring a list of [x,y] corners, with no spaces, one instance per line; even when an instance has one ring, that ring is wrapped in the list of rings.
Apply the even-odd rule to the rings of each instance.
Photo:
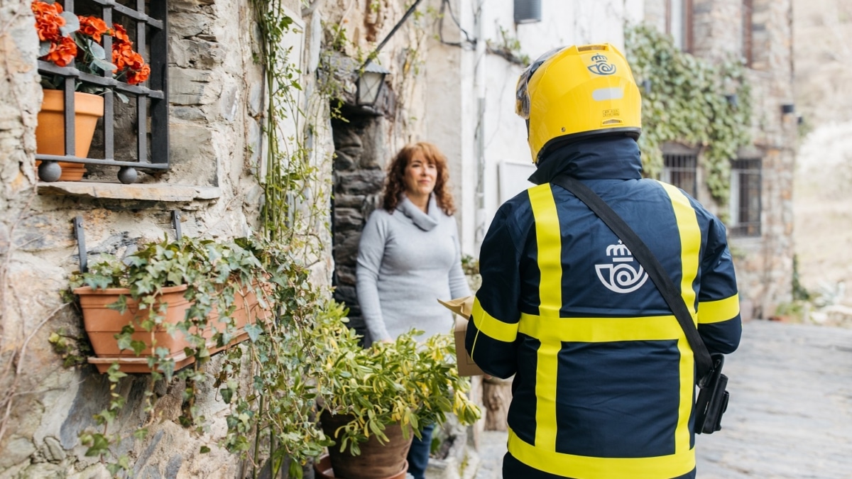
[[[167,95],[168,71],[168,23],[166,2],[160,0],[64,0],[63,9],[73,14],[95,14],[112,28],[113,18],[124,26],[134,42],[134,49],[146,58],[151,74],[143,84],[131,85],[112,78],[112,72],[103,72],[102,76],[81,72],[74,62],[69,66],[56,66],[48,61],[38,61],[38,72],[58,75],[64,78],[62,86],[65,100],[65,153],[64,155],[36,154],[41,160],[39,172],[45,167],[56,168],[57,161],[75,164],[95,164],[118,166],[118,180],[124,183],[135,181],[136,169],[165,170],[169,168],[169,100]],[[102,46],[112,52],[112,37],[103,36]],[[107,61],[110,57],[107,56]],[[95,138],[99,143],[98,156],[101,158],[78,158],[74,139],[74,92],[78,84],[90,84],[105,87],[104,116],[99,121]],[[129,99],[128,107],[121,107],[116,115],[116,97],[118,94]],[[119,139],[120,150],[116,151],[116,122],[124,114],[133,115],[135,121],[129,126],[126,121],[121,125]],[[124,130],[124,128],[127,130]],[[135,135],[130,130],[135,129]],[[127,136],[135,136],[135,152],[124,145]],[[89,157],[93,156],[89,153]],[[134,158],[135,157],[135,158]],[[40,174],[40,176],[42,176]]]

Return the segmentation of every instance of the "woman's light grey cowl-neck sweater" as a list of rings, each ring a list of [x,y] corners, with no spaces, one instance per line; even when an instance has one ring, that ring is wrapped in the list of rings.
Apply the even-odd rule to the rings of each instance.
[[[434,196],[428,215],[404,195],[393,214],[373,211],[361,234],[356,275],[367,344],[412,328],[425,331],[420,341],[452,332],[452,313],[437,300],[470,295],[456,221]]]

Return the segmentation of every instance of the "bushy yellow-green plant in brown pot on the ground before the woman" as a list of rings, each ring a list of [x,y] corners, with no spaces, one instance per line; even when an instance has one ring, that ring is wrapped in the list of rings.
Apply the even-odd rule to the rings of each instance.
[[[319,384],[320,424],[336,441],[329,447],[335,477],[379,479],[406,470],[412,436],[423,424],[441,424],[454,413],[473,424],[479,408],[469,401],[467,378],[458,375],[449,334],[417,343],[412,330],[394,342],[362,349],[354,335],[337,338],[326,384]],[[320,474],[324,462],[320,461]]]

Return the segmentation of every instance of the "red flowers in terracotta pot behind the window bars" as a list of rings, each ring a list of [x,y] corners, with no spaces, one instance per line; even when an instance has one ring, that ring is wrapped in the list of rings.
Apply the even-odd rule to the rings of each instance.
[[[142,56],[133,49],[133,42],[124,27],[112,27],[97,17],[65,12],[60,3],[35,1],[31,4],[36,16],[39,39],[39,59],[56,66],[74,66],[80,72],[102,76],[112,72],[112,78],[127,84],[140,84],[151,73]],[[104,36],[112,37],[112,58],[101,45]],[[36,127],[36,153],[55,156],[88,158],[89,147],[95,136],[98,118],[104,115],[107,87],[75,82],[74,152],[66,152],[65,145],[65,85],[66,77],[59,74],[42,74],[44,100],[38,113]],[[117,93],[117,95],[119,95]],[[124,101],[123,95],[119,95]],[[37,166],[41,162],[37,161]],[[58,162],[59,181],[79,181],[86,165]]]

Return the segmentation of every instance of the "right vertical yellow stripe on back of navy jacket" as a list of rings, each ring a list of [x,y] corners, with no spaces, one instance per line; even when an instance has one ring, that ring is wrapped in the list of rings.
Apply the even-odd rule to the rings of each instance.
[[[698,323],[698,312],[695,310],[695,289],[693,284],[698,276],[699,255],[701,252],[701,228],[698,216],[683,192],[668,183],[660,182],[671,199],[671,207],[675,211],[677,233],[681,237],[681,296],[687,304],[693,322]],[[678,408],[677,427],[675,428],[675,453],[689,449],[689,414],[692,413],[694,386],[694,356],[692,348],[685,338],[678,341],[677,349],[681,352],[680,361],[680,395],[681,404]]]

